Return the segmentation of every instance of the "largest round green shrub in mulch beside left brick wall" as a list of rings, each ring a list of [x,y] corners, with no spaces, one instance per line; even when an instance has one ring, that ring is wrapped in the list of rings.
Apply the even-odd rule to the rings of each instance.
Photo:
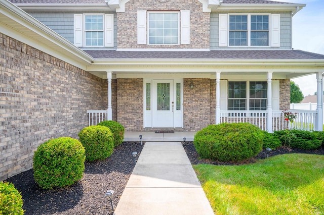
[[[33,169],[39,187],[53,189],[70,186],[83,177],[85,148],[70,137],[51,139],[37,147]]]

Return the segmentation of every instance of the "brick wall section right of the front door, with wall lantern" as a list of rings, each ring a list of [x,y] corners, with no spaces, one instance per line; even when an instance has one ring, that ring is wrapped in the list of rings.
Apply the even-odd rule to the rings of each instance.
[[[210,81],[209,78],[185,78],[183,80],[183,125],[185,131],[199,131],[210,124]],[[191,82],[194,85],[193,89],[189,87]]]

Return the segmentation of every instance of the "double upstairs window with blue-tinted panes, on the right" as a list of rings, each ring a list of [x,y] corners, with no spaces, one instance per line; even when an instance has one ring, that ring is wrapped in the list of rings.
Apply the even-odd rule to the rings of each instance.
[[[269,15],[230,15],[230,46],[269,46]]]

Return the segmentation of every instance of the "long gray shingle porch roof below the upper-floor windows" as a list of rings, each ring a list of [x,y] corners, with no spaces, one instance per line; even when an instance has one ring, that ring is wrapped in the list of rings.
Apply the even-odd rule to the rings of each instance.
[[[302,50],[85,51],[95,59],[322,59],[324,61],[324,55]]]

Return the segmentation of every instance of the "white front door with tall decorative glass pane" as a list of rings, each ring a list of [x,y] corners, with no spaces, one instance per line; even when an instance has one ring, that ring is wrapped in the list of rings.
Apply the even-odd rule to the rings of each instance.
[[[174,127],[174,81],[153,80],[153,127]]]

